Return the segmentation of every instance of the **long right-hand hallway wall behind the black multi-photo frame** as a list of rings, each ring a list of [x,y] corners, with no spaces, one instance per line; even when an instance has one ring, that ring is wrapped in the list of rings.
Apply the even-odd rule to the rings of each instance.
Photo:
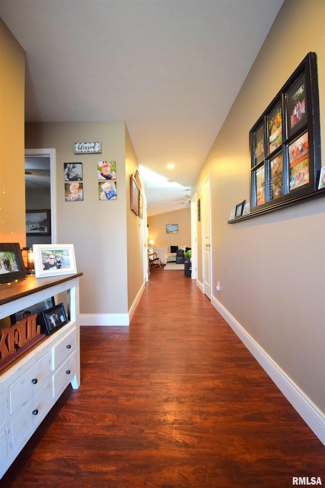
[[[309,51],[318,55],[325,164],[324,9],[324,2],[285,0],[194,188],[200,198],[202,181],[211,171],[216,300],[322,412],[325,199],[237,224],[227,221],[238,202],[249,201],[249,130]],[[201,261],[198,271],[202,281]],[[215,291],[217,281],[219,292]]]

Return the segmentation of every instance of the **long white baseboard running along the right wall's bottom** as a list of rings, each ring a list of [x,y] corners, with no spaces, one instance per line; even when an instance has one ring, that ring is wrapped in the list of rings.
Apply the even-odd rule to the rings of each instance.
[[[199,287],[200,288],[200,287]],[[325,445],[325,415],[314,405],[307,395],[291,380],[276,362],[259,346],[237,320],[221,303],[212,296],[211,303],[223,319],[230,325],[239,339],[247,347],[264,371],[274,381],[285,398],[304,419],[313,433]]]

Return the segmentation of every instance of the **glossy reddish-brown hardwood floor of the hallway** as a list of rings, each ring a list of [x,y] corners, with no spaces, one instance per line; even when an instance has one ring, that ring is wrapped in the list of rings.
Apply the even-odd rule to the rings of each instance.
[[[325,447],[183,271],[152,270],[130,327],[80,333],[79,390],[2,488],[325,485]]]

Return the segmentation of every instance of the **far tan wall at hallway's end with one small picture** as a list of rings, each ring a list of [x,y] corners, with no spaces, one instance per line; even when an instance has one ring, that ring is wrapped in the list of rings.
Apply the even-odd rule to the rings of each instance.
[[[148,217],[148,243],[154,240],[155,246],[191,246],[190,207]],[[167,224],[178,224],[178,234],[167,234]]]

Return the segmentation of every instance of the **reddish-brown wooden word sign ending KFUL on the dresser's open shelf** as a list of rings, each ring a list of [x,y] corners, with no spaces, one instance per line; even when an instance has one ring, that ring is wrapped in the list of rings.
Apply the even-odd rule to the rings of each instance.
[[[26,349],[29,343],[34,343],[38,335],[41,334],[41,326],[36,325],[37,314],[32,314],[11,327],[0,329],[0,363],[20,348]]]

